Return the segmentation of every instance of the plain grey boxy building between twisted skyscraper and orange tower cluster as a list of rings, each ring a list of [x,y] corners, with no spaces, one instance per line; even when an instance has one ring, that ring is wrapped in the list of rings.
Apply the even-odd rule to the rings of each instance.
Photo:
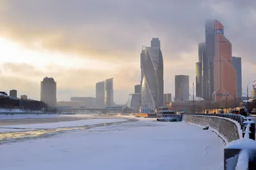
[[[175,101],[189,99],[189,76],[175,75]]]

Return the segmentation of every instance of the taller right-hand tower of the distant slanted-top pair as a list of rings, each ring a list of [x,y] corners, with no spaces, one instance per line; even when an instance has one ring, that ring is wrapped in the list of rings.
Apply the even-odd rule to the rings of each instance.
[[[114,106],[114,89],[113,89],[113,79],[109,78],[105,80],[105,106]]]

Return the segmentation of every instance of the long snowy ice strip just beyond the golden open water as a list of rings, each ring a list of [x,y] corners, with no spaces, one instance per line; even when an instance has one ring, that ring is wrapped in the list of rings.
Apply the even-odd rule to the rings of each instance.
[[[84,126],[84,125],[106,124],[106,123],[124,122],[124,121],[126,120],[116,118],[116,119],[76,120],[76,121],[56,122],[56,123],[47,123],[47,124],[8,125],[8,126],[0,126],[0,132],[28,131],[31,129],[56,129],[59,127],[78,127],[78,126]],[[15,129],[15,128],[19,128],[19,129]]]

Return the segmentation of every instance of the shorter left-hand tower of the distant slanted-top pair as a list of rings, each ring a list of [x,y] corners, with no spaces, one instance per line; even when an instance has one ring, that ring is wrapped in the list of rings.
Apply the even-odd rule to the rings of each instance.
[[[96,83],[96,107],[105,106],[105,81]]]

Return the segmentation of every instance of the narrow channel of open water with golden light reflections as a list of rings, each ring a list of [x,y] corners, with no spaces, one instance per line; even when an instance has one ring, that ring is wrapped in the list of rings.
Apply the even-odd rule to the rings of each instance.
[[[29,130],[24,129],[24,131],[19,131],[19,132],[0,132],[0,145],[3,143],[20,141],[20,139],[52,136],[57,132],[83,130],[83,129],[90,129],[92,127],[102,127],[107,125],[119,125],[129,121],[134,121],[134,120],[127,120],[124,122],[113,122],[113,123],[106,123],[106,124],[84,125],[79,127],[59,127],[56,129],[29,129]]]

